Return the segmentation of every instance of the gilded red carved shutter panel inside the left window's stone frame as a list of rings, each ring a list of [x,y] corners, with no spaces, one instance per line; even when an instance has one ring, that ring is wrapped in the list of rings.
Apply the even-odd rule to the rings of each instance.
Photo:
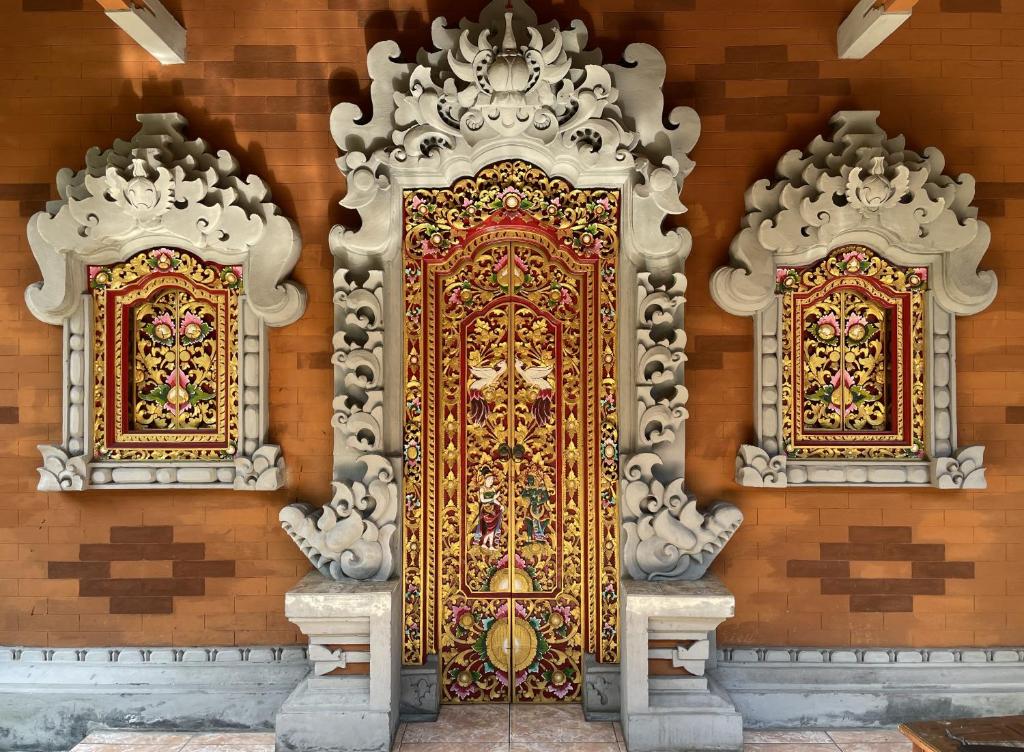
[[[96,460],[222,460],[239,433],[242,267],[156,248],[90,266]]]

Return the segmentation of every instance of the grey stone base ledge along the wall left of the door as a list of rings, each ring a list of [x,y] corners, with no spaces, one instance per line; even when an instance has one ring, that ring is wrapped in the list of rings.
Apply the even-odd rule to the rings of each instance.
[[[305,647],[0,647],[0,750],[67,750],[94,728],[272,730]]]

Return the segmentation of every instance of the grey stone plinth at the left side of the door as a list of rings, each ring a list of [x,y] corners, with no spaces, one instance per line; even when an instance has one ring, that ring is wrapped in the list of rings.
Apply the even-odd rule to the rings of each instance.
[[[306,575],[285,616],[309,637],[309,675],[276,718],[279,752],[387,752],[398,726],[398,582]]]

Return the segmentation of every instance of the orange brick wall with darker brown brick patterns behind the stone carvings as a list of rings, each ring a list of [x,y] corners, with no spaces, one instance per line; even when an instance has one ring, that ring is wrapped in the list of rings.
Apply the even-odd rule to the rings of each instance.
[[[344,182],[328,114],[342,100],[367,102],[370,44],[397,38],[408,58],[428,42],[430,17],[456,19],[478,5],[166,4],[188,29],[183,66],[152,61],[92,0],[0,0],[0,643],[299,640],[282,594],[308,567],[276,512],[330,495],[326,241],[332,223],[350,217],[337,206]],[[746,515],[715,567],[737,598],[721,641],[1024,643],[1024,0],[922,0],[906,26],[857,61],[834,50],[853,0],[552,5],[538,2],[542,19],[584,18],[609,59],[631,41],[655,44],[669,61],[670,103],[696,108],[703,122],[684,194],[694,236],[687,481],[701,500],[734,501]],[[979,181],[993,235],[985,265],[998,274],[999,295],[959,324],[958,402],[961,443],[987,447],[985,492],[732,483],[735,449],[753,437],[751,323],[715,307],[708,279],[726,260],[746,187],[843,108],[882,110],[890,133],[906,133],[918,150],[941,148],[950,173]],[[57,328],[23,302],[39,277],[27,218],[55,195],[58,168],[129,136],[136,112],[169,110],[266,178],[301,225],[296,277],[309,307],[271,334],[271,438],[285,449],[289,488],[37,493],[36,445],[60,440],[60,344]],[[851,578],[879,582],[864,592]],[[118,582],[125,579],[148,584]]]

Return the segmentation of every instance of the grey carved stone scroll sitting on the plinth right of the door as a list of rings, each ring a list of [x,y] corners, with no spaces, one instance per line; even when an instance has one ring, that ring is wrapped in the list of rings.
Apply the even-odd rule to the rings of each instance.
[[[635,580],[696,580],[743,521],[732,504],[700,512],[683,478],[658,478],[656,454],[633,457],[623,471],[623,565]]]

